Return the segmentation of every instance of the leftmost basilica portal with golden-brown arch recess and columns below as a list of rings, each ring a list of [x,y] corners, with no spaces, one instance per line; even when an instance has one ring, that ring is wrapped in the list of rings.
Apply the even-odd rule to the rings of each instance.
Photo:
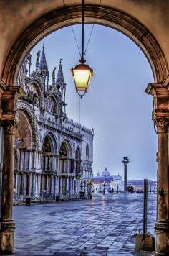
[[[23,108],[21,108],[23,106]],[[31,109],[18,102],[14,132],[14,196],[32,196],[32,170],[38,148],[37,129]]]

